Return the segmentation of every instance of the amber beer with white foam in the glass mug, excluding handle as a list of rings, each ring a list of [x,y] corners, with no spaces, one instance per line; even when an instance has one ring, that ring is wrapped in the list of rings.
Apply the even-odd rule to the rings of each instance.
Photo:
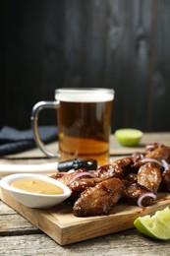
[[[113,91],[61,89],[56,90],[55,98],[60,160],[108,162]]]

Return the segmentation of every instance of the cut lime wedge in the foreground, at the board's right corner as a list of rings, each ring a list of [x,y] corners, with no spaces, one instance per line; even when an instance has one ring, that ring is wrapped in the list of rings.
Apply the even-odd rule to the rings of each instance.
[[[139,217],[134,225],[143,234],[155,238],[170,239],[170,208],[166,207],[162,211],[157,211],[152,217],[149,215]]]

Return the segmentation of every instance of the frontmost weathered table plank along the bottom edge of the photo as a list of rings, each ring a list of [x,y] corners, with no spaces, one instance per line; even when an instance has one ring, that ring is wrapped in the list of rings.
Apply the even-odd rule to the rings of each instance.
[[[122,242],[123,241],[123,242]],[[139,242],[140,241],[140,242]],[[169,256],[169,241],[154,242],[139,237],[135,229],[97,237],[79,243],[60,246],[45,234],[29,234],[15,236],[0,236],[0,250],[4,256],[26,255],[57,255],[78,256],[97,255],[101,256]]]

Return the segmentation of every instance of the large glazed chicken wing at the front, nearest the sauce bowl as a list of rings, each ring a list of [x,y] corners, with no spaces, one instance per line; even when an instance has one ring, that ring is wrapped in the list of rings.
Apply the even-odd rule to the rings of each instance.
[[[108,214],[122,196],[123,182],[119,178],[110,178],[86,189],[76,201],[75,216],[96,216]]]

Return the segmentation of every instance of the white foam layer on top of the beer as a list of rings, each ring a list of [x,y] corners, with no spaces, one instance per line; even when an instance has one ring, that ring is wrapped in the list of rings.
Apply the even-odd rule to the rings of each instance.
[[[56,90],[55,99],[66,102],[103,102],[114,98],[113,90]]]

